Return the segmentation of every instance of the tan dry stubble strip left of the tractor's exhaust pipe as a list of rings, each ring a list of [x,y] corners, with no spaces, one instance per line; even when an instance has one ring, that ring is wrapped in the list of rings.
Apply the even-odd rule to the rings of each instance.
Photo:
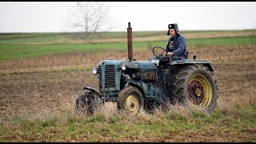
[[[119,60],[126,58],[126,53],[117,50],[110,50],[107,54],[98,51],[72,52],[38,58],[0,61],[0,72],[2,74],[10,74],[64,69],[92,69],[93,66],[104,59],[113,58]]]

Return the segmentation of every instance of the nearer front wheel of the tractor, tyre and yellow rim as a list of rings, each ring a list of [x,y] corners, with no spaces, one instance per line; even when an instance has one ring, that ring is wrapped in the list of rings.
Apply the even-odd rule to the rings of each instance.
[[[140,110],[143,110],[143,106],[143,94],[134,86],[129,86],[121,90],[118,94],[118,110],[123,110],[128,114],[134,115],[138,114]]]

